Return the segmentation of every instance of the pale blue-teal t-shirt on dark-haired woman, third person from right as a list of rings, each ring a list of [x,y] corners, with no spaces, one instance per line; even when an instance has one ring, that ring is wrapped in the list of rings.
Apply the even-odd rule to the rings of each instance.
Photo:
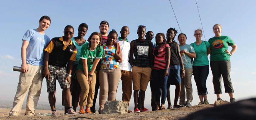
[[[186,50],[187,52],[190,52],[190,53],[195,52],[195,49],[189,44],[185,44],[183,46],[180,46],[180,51],[183,50],[183,49]],[[189,55],[187,55],[186,53],[185,53],[185,56],[186,56],[186,59],[187,59],[188,62],[183,63],[184,68],[192,68],[191,57],[189,57]]]

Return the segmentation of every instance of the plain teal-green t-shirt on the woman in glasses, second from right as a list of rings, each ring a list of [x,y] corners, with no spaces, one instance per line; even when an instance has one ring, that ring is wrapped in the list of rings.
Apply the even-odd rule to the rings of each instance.
[[[209,60],[207,58],[207,48],[210,47],[209,42],[202,41],[201,44],[196,45],[196,43],[190,44],[195,49],[196,58],[194,58],[193,66],[204,66],[209,65]]]

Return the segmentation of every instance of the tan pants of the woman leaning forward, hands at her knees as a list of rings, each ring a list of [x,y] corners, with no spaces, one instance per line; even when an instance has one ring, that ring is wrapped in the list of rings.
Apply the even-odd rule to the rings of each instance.
[[[81,87],[81,95],[79,105],[92,107],[93,98],[94,98],[94,90],[96,84],[96,73],[92,74],[92,83],[89,85],[86,76],[84,74],[84,70],[77,69],[76,70],[77,81]]]

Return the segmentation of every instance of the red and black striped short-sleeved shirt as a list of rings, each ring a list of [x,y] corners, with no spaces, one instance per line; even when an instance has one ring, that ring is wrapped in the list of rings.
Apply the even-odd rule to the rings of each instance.
[[[155,50],[156,47],[153,48],[153,55],[154,55],[154,70],[162,70],[166,67],[166,50],[170,46],[168,44],[163,44],[158,50]]]

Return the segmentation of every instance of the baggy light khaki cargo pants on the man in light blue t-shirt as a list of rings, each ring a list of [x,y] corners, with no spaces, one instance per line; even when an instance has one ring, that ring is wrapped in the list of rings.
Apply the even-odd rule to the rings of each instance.
[[[44,67],[43,65],[35,66],[31,64],[27,64],[27,67],[27,73],[20,72],[19,83],[9,116],[18,116],[20,114],[27,91],[29,92],[25,114],[29,116],[35,115],[35,109],[41,94]]]

